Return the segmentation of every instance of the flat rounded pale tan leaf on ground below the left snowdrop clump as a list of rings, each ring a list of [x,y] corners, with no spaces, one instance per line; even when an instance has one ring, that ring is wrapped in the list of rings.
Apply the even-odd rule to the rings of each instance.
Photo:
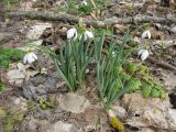
[[[84,96],[76,94],[61,95],[58,98],[58,103],[63,110],[70,111],[73,113],[81,113],[90,107],[89,100],[87,100]]]

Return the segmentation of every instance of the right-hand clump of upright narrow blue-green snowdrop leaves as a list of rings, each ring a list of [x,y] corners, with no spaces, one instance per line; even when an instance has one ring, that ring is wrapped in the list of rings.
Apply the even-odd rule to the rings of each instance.
[[[131,85],[135,85],[133,88],[139,86],[139,81],[136,84],[132,84],[132,81],[130,81],[131,84],[129,82],[128,85],[124,85],[122,80],[124,79],[124,74],[121,74],[122,65],[131,54],[131,51],[123,48],[128,43],[128,33],[125,33],[122,44],[117,44],[116,41],[112,40],[110,47],[107,48],[107,54],[103,57],[101,53],[105,43],[105,32],[95,46],[98,90],[106,110],[110,108],[111,103],[118,97],[129,90],[133,90],[131,89]]]

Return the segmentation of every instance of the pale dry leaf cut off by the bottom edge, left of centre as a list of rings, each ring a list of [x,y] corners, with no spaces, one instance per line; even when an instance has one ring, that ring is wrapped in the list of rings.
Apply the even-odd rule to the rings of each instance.
[[[50,127],[46,132],[78,132],[74,124],[58,121]]]

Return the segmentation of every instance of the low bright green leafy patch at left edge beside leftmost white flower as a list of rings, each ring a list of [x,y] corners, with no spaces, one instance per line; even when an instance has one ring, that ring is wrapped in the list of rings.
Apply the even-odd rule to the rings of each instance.
[[[21,50],[0,47],[0,66],[8,68],[10,63],[22,61],[24,54]]]

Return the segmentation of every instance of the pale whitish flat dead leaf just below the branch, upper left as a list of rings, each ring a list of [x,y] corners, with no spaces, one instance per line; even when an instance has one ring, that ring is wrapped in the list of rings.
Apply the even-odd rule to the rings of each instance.
[[[43,31],[46,28],[52,28],[51,23],[42,23],[42,22],[37,22],[35,23],[35,25],[33,25],[31,28],[31,30],[29,31],[26,37],[30,40],[38,40],[40,36],[43,34]]]

